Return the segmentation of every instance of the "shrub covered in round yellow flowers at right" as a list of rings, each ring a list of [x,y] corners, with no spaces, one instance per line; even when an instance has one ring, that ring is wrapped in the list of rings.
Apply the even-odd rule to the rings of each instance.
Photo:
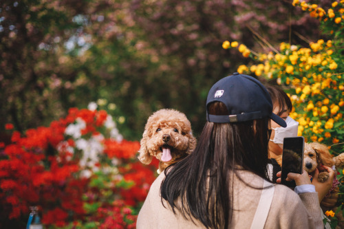
[[[268,53],[256,53],[232,41],[235,45],[230,48],[237,48],[252,60],[249,65],[240,65],[237,72],[275,79],[290,94],[294,105],[290,117],[299,122],[298,135],[303,135],[306,142],[326,144],[334,155],[344,153],[344,0],[333,1],[328,9],[299,0],[292,5],[321,21],[327,41],[320,39],[309,47],[281,43],[279,50]],[[338,179],[343,177],[340,171]],[[340,188],[344,193],[344,186]],[[338,202],[343,203],[344,197]],[[334,223],[334,212],[327,214],[334,217]]]

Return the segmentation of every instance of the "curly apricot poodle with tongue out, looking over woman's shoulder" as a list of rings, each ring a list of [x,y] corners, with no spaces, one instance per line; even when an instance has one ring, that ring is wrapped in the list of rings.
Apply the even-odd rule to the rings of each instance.
[[[161,173],[189,155],[195,149],[196,139],[184,113],[160,109],[148,118],[140,144],[138,159],[149,164],[156,157],[160,160],[158,173]]]

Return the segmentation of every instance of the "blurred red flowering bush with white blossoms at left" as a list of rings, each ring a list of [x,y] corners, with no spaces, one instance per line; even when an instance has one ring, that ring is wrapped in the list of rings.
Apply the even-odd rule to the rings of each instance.
[[[139,142],[122,140],[106,111],[72,108],[11,141],[0,142],[0,228],[23,228],[30,206],[49,228],[135,228],[158,165],[138,162]]]

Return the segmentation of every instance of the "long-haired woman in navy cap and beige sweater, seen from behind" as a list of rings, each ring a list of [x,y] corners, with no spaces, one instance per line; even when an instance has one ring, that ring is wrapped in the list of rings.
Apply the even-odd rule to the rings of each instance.
[[[208,92],[197,146],[153,182],[140,228],[323,228],[319,199],[268,179],[272,101],[259,80],[235,73]],[[290,177],[289,177],[290,175]],[[297,186],[308,174],[289,173]]]

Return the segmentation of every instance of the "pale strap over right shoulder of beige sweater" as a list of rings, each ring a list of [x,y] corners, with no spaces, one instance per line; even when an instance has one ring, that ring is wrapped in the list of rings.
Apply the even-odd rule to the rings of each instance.
[[[270,186],[270,188],[266,188]],[[266,218],[272,203],[272,197],[274,196],[275,186],[264,179],[264,189],[261,190],[261,196],[255,217],[253,217],[251,229],[262,229],[265,226]]]

